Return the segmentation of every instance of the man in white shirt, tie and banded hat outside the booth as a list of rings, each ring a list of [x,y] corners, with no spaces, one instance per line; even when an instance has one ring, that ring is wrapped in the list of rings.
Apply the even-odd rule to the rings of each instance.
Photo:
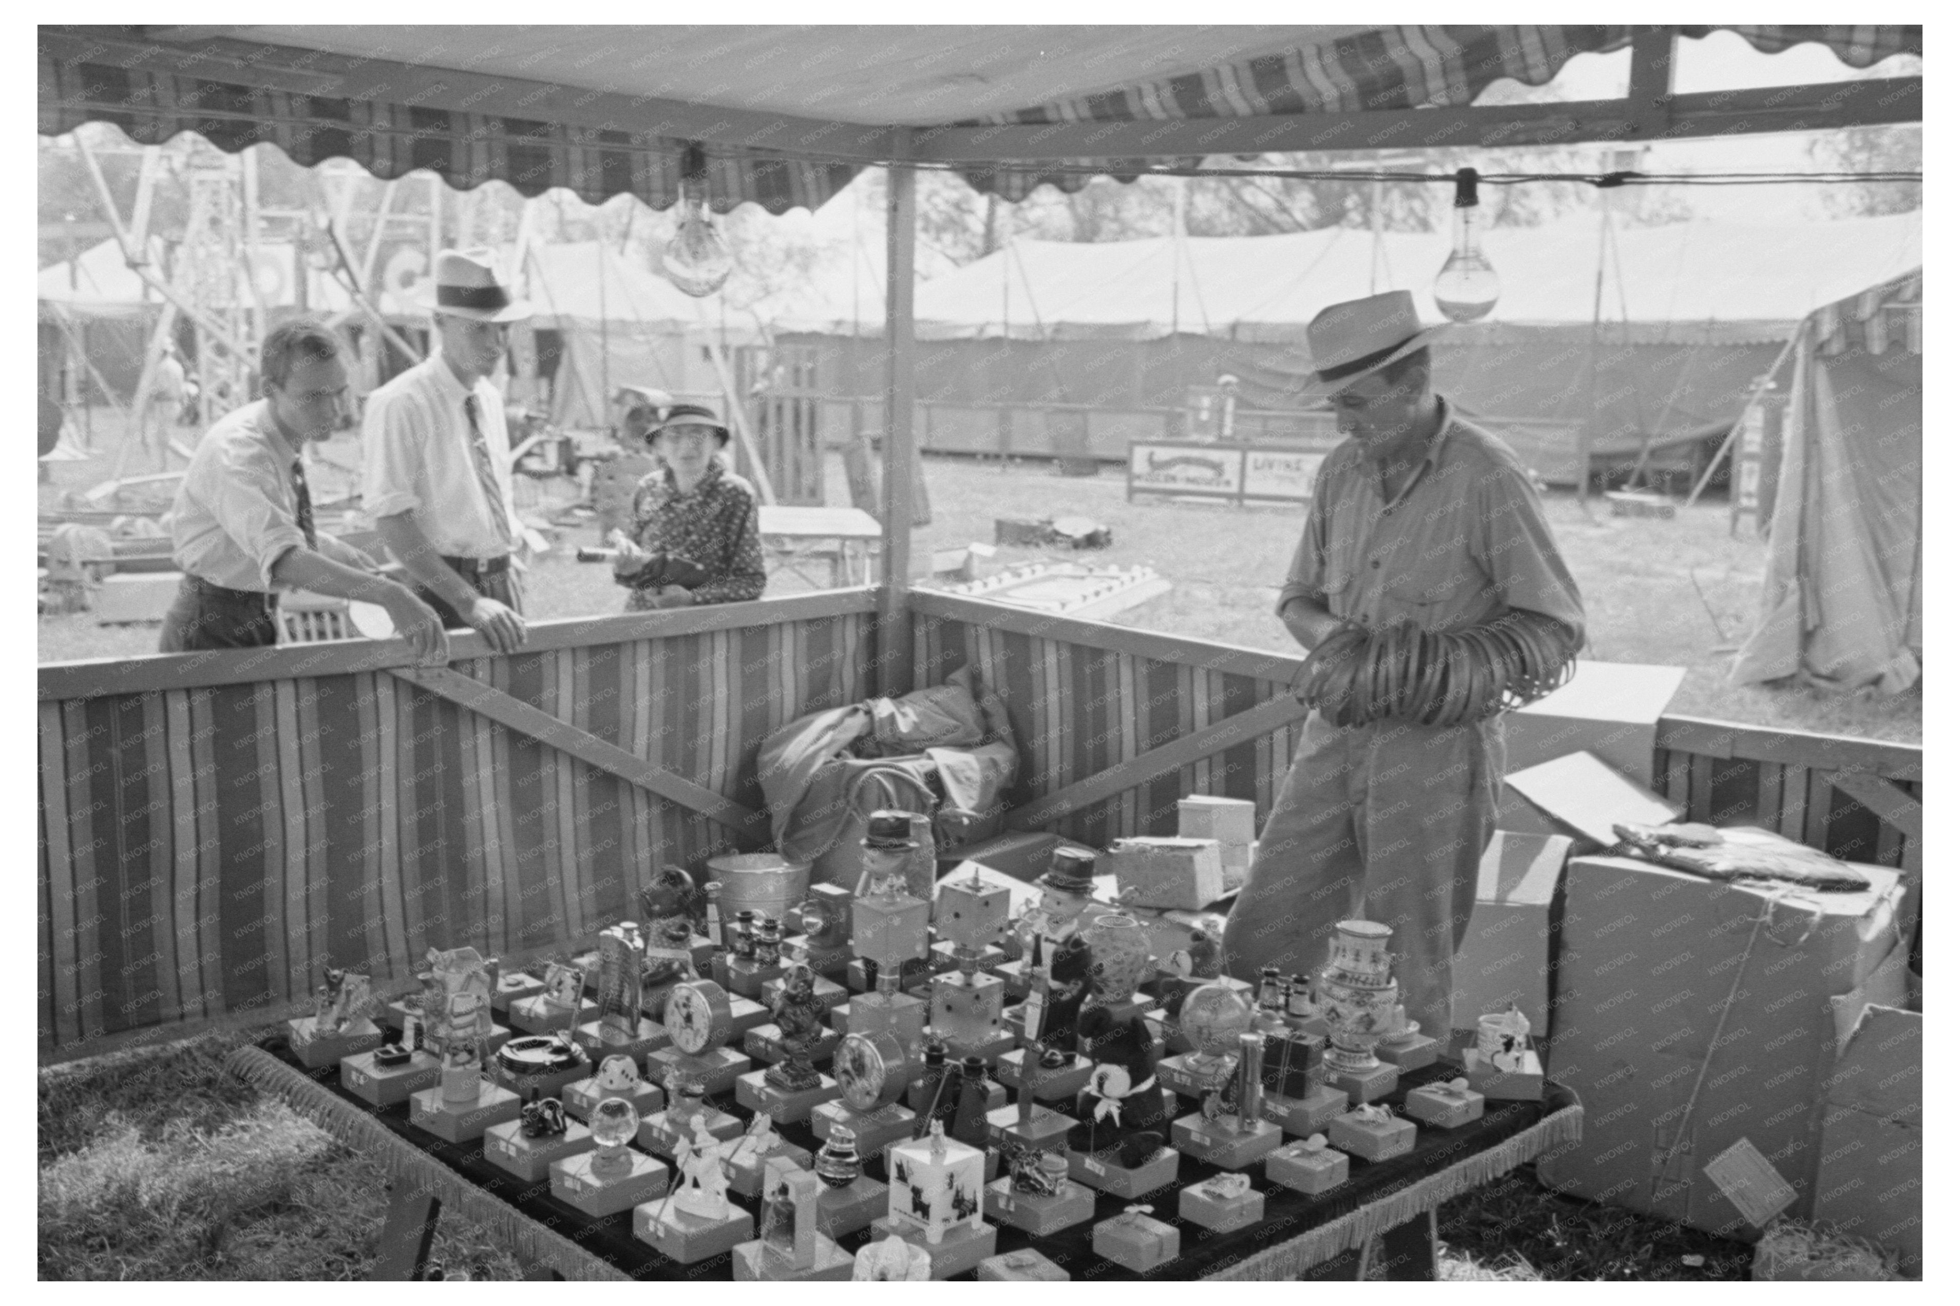
[[[423,304],[441,349],[368,396],[367,510],[445,626],[512,653],[523,643],[514,559],[523,527],[490,373],[531,306],[512,296],[490,249],[439,253]]]

